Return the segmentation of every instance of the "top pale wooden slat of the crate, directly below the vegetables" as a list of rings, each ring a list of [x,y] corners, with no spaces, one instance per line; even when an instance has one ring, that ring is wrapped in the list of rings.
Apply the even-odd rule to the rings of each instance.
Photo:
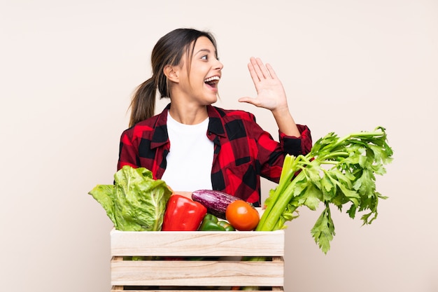
[[[284,256],[284,230],[111,231],[112,256]]]

